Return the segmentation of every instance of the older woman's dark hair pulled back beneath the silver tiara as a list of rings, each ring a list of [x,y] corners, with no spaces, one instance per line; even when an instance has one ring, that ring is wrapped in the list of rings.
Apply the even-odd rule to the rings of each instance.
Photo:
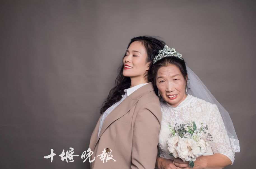
[[[151,65],[149,70],[148,70],[148,81],[152,82],[153,87],[155,89],[155,94],[158,96],[158,89],[156,85],[156,76],[157,76],[157,71],[159,70],[160,67],[162,66],[168,66],[169,64],[176,65],[179,69],[180,72],[185,79],[186,82],[188,82],[188,73],[187,73],[187,67],[184,59],[177,58],[175,56],[169,56],[160,59],[157,61],[154,65]],[[189,89],[189,88],[188,88]]]

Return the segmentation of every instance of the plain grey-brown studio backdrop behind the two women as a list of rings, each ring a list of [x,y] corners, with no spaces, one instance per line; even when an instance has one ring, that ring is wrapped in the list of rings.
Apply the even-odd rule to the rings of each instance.
[[[255,166],[253,1],[1,1],[0,168],[89,168],[83,151],[127,44],[160,36],[230,112]],[[62,150],[74,148],[74,162]],[[43,156],[54,149],[53,162]],[[113,154],[114,155],[114,154]]]

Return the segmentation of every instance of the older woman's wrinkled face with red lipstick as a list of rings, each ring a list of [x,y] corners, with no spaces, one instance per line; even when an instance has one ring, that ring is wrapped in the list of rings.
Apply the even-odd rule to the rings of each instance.
[[[187,97],[186,83],[176,65],[162,66],[157,71],[156,85],[159,93],[172,107],[177,107]]]

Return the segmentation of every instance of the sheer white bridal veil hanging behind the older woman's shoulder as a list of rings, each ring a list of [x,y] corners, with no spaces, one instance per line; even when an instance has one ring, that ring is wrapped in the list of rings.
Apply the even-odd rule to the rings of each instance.
[[[227,110],[221,106],[221,104],[215,99],[215,97],[211,94],[211,92],[207,89],[207,87],[203,84],[199,77],[188,67],[188,94],[208,101],[212,104],[216,104],[220,111],[220,114],[223,118],[227,134],[229,136],[229,140],[231,142],[232,151],[234,153],[240,152],[239,140],[236,135],[236,131],[234,129],[232,120],[229,116]]]

